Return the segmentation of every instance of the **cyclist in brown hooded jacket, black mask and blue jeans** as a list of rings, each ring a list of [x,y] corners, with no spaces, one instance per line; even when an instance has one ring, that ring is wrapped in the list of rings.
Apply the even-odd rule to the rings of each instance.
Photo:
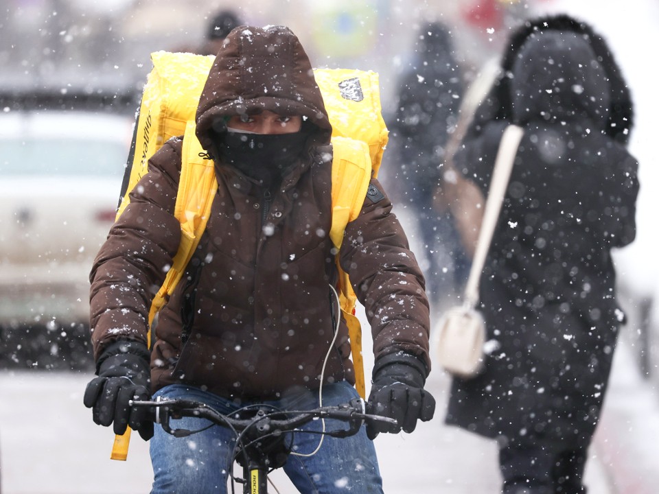
[[[95,423],[113,423],[117,434],[130,425],[151,438],[152,493],[225,492],[232,436],[209,427],[174,438],[154,428],[143,408],[129,407],[134,397],[196,399],[224,413],[257,403],[314,408],[319,389],[323,405],[357,397],[347,327],[331,290],[332,127],[297,37],[286,27],[233,30],[207,78],[196,124],[215,161],[218,192],[151,348],[150,303],[181,241],[173,215],[180,138],[154,154],[91,271],[97,377],[84,404]],[[367,422],[356,436],[325,438],[316,454],[291,456],[284,470],[305,493],[381,493],[372,439],[413,431],[417,420],[432,418],[435,400],[424,390],[424,277],[378,180],[345,228],[340,264],[373,333],[371,412],[397,425]],[[200,420],[176,427],[195,429],[186,421]],[[293,449],[310,453],[317,443],[297,435]]]

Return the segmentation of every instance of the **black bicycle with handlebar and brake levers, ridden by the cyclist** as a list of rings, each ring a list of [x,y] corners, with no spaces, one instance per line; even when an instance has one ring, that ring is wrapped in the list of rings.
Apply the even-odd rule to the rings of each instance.
[[[235,434],[233,454],[229,458],[231,492],[235,493],[235,483],[243,484],[243,494],[267,494],[268,473],[286,464],[291,454],[288,440],[296,432],[321,434],[321,436],[347,437],[354,435],[366,419],[395,424],[395,419],[368,414],[362,399],[335,406],[321,406],[312,410],[278,410],[268,405],[253,405],[226,415],[200,401],[188,399],[156,399],[155,401],[130,401],[131,406],[153,408],[154,421],[165,432],[174,437],[187,437],[201,430],[174,429],[171,419],[196,417],[207,419],[215,425],[229,427]],[[301,431],[297,427],[316,419],[337,419],[347,423],[346,429],[325,430],[322,432]],[[322,442],[322,439],[321,439]],[[233,463],[242,467],[243,477],[237,478]],[[273,486],[274,487],[274,486]],[[275,487],[275,491],[277,488]]]

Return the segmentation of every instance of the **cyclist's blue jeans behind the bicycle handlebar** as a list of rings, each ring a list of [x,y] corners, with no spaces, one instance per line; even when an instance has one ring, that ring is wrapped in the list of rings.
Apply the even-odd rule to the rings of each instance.
[[[199,388],[173,384],[159,390],[154,397],[187,398],[206,403],[222,414],[230,414],[255,402],[236,403],[205,392]],[[358,397],[353,386],[343,381],[323,386],[323,405],[347,403]],[[264,401],[280,410],[305,410],[319,406],[317,392],[301,392],[292,399]],[[200,430],[210,425],[206,419],[183,418],[172,420],[173,429]],[[325,420],[325,429],[345,429],[345,423]],[[322,421],[312,421],[302,430],[322,430]],[[375,456],[373,441],[362,426],[355,436],[333,438],[323,436],[323,443],[312,456],[291,454],[284,471],[294,486],[303,494],[382,494],[382,478]],[[319,434],[296,432],[292,451],[310,454],[319,445]],[[229,458],[234,445],[233,432],[227,427],[214,425],[185,438],[175,438],[155,425],[150,441],[151,462],[154,471],[152,494],[227,493]],[[242,477],[239,467],[235,475]],[[236,486],[242,492],[242,486]]]

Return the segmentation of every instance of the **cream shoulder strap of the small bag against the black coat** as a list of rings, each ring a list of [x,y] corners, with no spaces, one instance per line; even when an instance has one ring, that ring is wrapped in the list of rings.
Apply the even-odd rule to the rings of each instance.
[[[489,194],[485,202],[485,211],[483,212],[483,222],[481,230],[478,232],[478,242],[472,268],[469,272],[467,285],[465,287],[465,306],[476,307],[478,303],[478,282],[481,280],[483,266],[485,266],[485,257],[489,245],[492,242],[494,227],[499,217],[501,204],[508,188],[510,173],[513,169],[513,163],[517,154],[517,148],[524,135],[524,130],[518,126],[508,126],[503,132],[499,149],[496,153],[494,170],[492,171],[492,181],[489,185]]]

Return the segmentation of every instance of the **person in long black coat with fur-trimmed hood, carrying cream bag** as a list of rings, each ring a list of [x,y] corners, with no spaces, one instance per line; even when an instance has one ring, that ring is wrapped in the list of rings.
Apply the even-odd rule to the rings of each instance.
[[[524,129],[481,276],[485,370],[446,423],[496,438],[505,494],[585,493],[618,328],[612,248],[634,239],[632,101],[601,36],[569,16],[513,32],[454,157],[487,196],[504,129]]]

